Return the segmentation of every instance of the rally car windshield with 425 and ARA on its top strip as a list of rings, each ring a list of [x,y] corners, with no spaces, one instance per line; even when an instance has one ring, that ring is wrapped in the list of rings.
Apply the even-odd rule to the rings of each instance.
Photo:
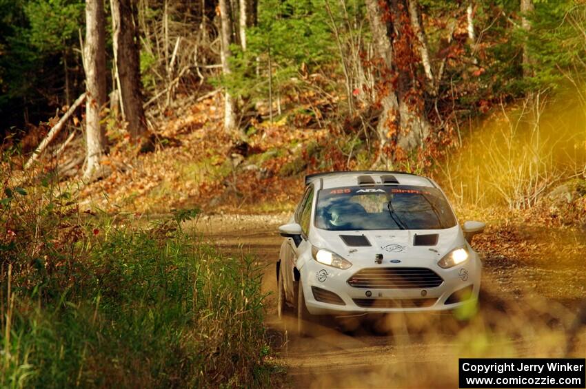
[[[322,189],[315,225],[330,231],[447,229],[456,218],[438,189],[381,185]]]

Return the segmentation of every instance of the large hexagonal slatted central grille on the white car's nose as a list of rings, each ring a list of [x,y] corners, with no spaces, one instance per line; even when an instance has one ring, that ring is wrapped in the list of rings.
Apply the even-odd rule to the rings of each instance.
[[[347,282],[354,288],[423,289],[440,286],[443,278],[423,267],[378,267],[362,269]]]

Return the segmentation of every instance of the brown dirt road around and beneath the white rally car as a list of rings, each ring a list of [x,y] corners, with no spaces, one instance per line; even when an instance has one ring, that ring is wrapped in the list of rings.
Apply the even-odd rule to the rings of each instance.
[[[274,263],[288,215],[216,215],[197,223],[205,239],[228,253],[252,253],[265,264],[263,289],[276,291]],[[534,237],[534,239],[540,239]],[[584,242],[580,242],[583,244]],[[579,256],[567,253],[515,261],[498,251],[483,253],[483,295],[474,318],[387,317],[383,335],[369,328],[343,333],[333,326],[314,337],[294,335],[292,321],[279,321],[274,293],[267,297],[267,326],[293,388],[457,387],[458,357],[563,357],[584,355],[584,333],[571,337],[586,286]],[[584,259],[584,258],[583,258]],[[576,261],[580,261],[580,266]],[[554,265],[552,265],[552,263]],[[568,348],[569,347],[569,348]]]

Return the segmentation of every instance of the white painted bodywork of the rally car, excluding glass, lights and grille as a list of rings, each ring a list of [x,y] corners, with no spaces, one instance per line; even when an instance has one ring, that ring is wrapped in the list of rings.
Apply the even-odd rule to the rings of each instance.
[[[391,174],[391,173],[389,173]],[[327,176],[310,180],[314,185],[315,194],[320,189],[339,187],[356,187],[356,176],[360,173],[347,172],[339,176]],[[372,175],[376,183],[381,174]],[[392,175],[400,182],[400,185],[435,187],[435,182],[428,178],[412,176],[408,174]],[[441,190],[441,189],[440,189]],[[482,264],[478,255],[472,250],[465,240],[463,231],[456,219],[456,225],[447,229],[433,230],[375,230],[375,231],[328,231],[315,227],[316,201],[312,202],[311,224],[308,236],[303,237],[297,247],[292,238],[285,238],[281,246],[279,256],[281,274],[284,278],[286,299],[290,304],[295,304],[296,273],[301,277],[303,294],[307,311],[312,315],[356,315],[362,313],[390,313],[390,312],[421,312],[421,311],[445,311],[457,308],[465,302],[445,304],[446,299],[455,291],[472,285],[472,297],[478,297],[481,282]],[[450,205],[451,207],[451,205]],[[452,209],[453,212],[453,209]],[[295,222],[294,216],[290,223]],[[414,246],[415,234],[438,234],[437,244],[434,246]],[[372,246],[347,246],[340,235],[364,235]],[[312,257],[312,246],[332,251],[345,260],[352,262],[350,269],[341,270],[332,266],[321,264]],[[466,247],[469,253],[468,259],[462,264],[450,269],[442,269],[438,261],[454,249]],[[375,261],[377,254],[383,255],[381,264]],[[443,282],[434,288],[358,288],[350,286],[348,280],[354,273],[361,269],[380,268],[404,268],[417,267],[431,269]],[[330,304],[316,301],[312,293],[312,286],[325,291],[336,293],[345,305]],[[366,292],[371,295],[366,295]],[[431,306],[405,308],[370,308],[358,306],[353,299],[436,299]]]

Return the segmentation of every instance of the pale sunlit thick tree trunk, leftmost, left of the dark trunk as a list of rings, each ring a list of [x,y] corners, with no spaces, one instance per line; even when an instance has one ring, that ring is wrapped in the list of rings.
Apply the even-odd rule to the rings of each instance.
[[[85,147],[84,180],[91,180],[105,146],[100,112],[106,98],[103,0],[85,1]]]

